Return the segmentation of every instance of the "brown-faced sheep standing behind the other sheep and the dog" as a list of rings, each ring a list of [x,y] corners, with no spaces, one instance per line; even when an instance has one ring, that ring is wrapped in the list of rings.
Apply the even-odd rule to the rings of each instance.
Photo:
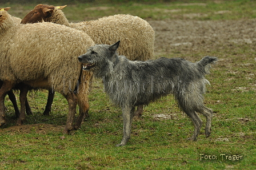
[[[113,15],[95,21],[69,23],[61,9],[66,6],[39,4],[34,7],[21,23],[53,22],[85,31],[95,43],[112,44],[121,41],[118,52],[130,60],[148,60],[154,55],[153,28],[147,21],[132,15]],[[135,116],[142,114],[139,106]]]

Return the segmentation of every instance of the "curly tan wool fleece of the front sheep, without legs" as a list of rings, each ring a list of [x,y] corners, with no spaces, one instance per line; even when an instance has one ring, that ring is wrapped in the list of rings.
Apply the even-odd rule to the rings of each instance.
[[[14,25],[9,14],[0,18],[0,29],[1,80],[62,94],[74,90],[82,67],[77,56],[94,45],[86,33],[46,22]]]

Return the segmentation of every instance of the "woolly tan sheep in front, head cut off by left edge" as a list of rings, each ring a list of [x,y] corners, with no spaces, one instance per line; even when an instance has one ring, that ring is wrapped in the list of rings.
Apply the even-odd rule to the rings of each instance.
[[[82,71],[77,56],[84,54],[93,40],[83,31],[54,23],[16,25],[7,11],[0,11],[0,126],[5,123],[4,97],[7,91],[22,82],[33,88],[53,88],[67,99],[69,114],[64,133],[73,129],[77,103],[81,108],[87,102],[91,72]],[[77,89],[79,78],[81,82]],[[21,98],[27,86],[21,88]],[[77,90],[77,96],[74,91]],[[21,100],[21,115],[25,120],[25,100]],[[83,108],[82,108],[83,109]],[[84,112],[74,125],[79,127]]]

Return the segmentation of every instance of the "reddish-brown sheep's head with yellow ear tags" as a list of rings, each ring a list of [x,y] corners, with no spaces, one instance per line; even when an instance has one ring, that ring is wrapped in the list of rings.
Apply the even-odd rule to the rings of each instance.
[[[42,22],[46,18],[51,17],[51,14],[54,13],[55,9],[63,9],[65,6],[51,6],[51,5],[42,5],[38,4],[31,10],[27,15],[22,19],[21,23],[35,23]]]

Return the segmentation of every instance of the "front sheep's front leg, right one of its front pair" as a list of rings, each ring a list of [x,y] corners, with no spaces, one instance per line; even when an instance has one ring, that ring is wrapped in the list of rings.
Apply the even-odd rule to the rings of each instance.
[[[22,86],[19,93],[19,102],[21,102],[21,114],[19,115],[19,118],[17,120],[17,125],[22,125],[23,122],[26,120],[26,102],[27,102],[27,91],[29,91],[29,88],[27,86]]]

